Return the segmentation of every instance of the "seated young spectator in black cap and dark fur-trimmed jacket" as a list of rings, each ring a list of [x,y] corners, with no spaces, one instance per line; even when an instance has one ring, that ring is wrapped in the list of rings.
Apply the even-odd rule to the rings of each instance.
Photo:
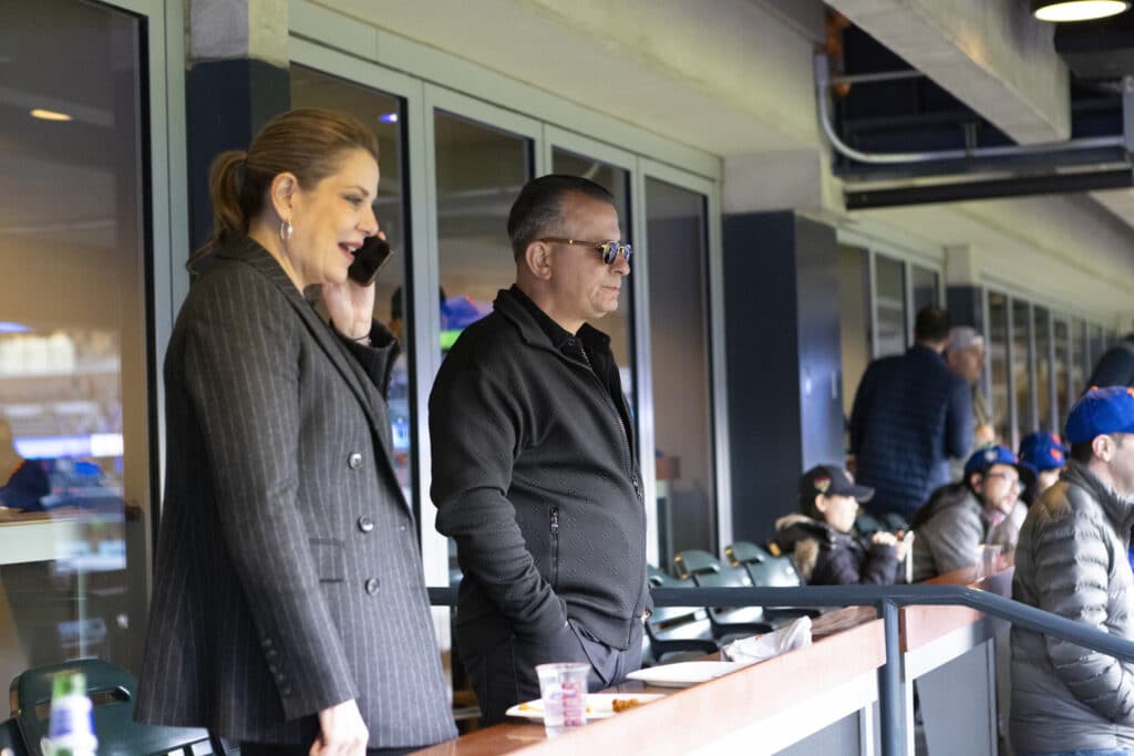
[[[799,578],[810,585],[898,583],[909,538],[880,530],[870,538],[854,530],[858,503],[874,490],[856,485],[841,467],[820,465],[799,478],[802,515],[776,521],[776,546],[792,554]]]

